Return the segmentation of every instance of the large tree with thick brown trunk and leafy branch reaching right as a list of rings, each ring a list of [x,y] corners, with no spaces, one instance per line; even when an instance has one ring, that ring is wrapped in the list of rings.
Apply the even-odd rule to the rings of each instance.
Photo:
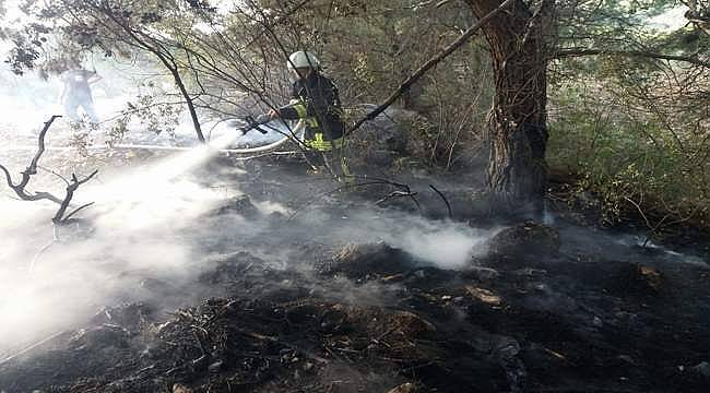
[[[465,2],[481,19],[504,0]],[[686,26],[666,34],[653,29],[652,16],[683,4],[689,8],[685,16],[695,28]],[[588,56],[613,58],[619,64],[630,61],[647,67],[647,79],[655,70],[674,75],[671,82],[681,88],[687,84],[683,82],[686,75],[705,74],[695,69],[710,69],[705,46],[695,45],[694,49],[677,45],[678,40],[697,40],[697,35],[708,34],[707,8],[706,1],[516,0],[484,24],[495,75],[488,115],[488,178],[493,195],[502,202],[499,206],[533,212],[542,209],[547,179],[547,73],[553,61]],[[618,68],[624,74],[624,67]],[[697,83],[697,76],[693,81]]]

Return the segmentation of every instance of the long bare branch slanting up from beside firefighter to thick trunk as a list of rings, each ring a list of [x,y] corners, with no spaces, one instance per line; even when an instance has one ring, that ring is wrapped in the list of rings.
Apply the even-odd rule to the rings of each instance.
[[[425,62],[422,67],[419,67],[412,75],[410,75],[402,84],[382,103],[380,104],[377,108],[372,109],[369,114],[367,114],[365,117],[359,119],[353,127],[351,127],[346,132],[345,135],[350,135],[352,132],[357,130],[360,126],[363,126],[366,121],[375,119],[378,115],[383,112],[387,108],[390,107],[402,94],[404,94],[406,91],[410,90],[410,87],[419,80],[427,71],[433,69],[436,64],[441,62],[441,60],[446,59],[449,55],[453,53],[459,47],[461,47],[463,44],[465,44],[473,35],[481,28],[483,27],[488,21],[490,21],[495,15],[497,15],[500,11],[506,9],[508,5],[510,5],[513,2],[513,0],[506,0],[504,1],[500,5],[498,5],[497,9],[490,11],[487,15],[478,20],[478,23],[474,24],[473,26],[469,27],[459,38],[457,38],[453,43],[449,44],[446,48],[443,48],[437,56],[433,57],[429,59],[427,62]]]

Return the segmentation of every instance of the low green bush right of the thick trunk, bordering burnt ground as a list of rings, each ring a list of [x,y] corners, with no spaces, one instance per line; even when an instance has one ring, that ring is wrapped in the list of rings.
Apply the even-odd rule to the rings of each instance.
[[[615,88],[587,79],[555,90],[549,165],[576,174],[578,193],[596,194],[607,224],[640,214],[654,230],[674,222],[706,225],[707,124],[699,131],[678,121],[668,129],[648,108],[629,106]]]

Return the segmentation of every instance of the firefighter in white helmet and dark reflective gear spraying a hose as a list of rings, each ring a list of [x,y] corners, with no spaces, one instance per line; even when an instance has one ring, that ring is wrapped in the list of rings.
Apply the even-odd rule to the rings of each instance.
[[[308,160],[326,165],[340,179],[352,181],[353,176],[342,156],[345,123],[338,86],[320,73],[320,62],[311,52],[294,52],[287,67],[296,76],[292,99],[288,105],[272,109],[270,118],[305,122],[304,144],[309,150]]]

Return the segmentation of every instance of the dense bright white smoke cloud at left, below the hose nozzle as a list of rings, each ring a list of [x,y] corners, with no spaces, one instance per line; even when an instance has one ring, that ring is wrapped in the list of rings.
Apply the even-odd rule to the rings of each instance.
[[[135,287],[137,277],[187,279],[194,264],[192,242],[181,231],[221,196],[181,176],[214,152],[196,148],[103,184],[84,184],[76,198],[96,202],[83,213],[91,224],[57,227],[56,233],[49,224],[56,205],[3,199],[0,349],[116,303],[120,299],[114,297]],[[72,239],[82,231],[85,238]]]

